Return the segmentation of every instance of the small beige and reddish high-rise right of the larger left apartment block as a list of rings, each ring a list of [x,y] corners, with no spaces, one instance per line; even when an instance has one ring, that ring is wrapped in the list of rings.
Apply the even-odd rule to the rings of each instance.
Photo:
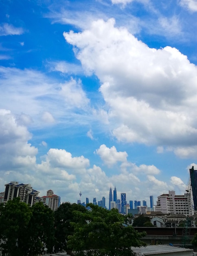
[[[56,211],[60,205],[60,196],[54,195],[53,190],[48,190],[45,196],[42,196],[41,202],[47,205],[51,210]]]

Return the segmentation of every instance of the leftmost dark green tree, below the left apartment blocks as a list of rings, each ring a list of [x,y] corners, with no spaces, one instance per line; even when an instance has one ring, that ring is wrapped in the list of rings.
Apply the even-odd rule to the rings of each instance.
[[[24,232],[31,220],[31,208],[20,198],[0,205],[0,251],[2,256],[23,256]]]

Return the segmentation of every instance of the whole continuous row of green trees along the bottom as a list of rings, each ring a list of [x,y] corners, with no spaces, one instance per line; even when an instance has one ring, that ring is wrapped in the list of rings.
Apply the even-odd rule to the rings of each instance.
[[[0,204],[2,256],[37,256],[44,252],[77,255],[132,255],[131,246],[145,245],[131,225],[131,216],[90,204],[62,204],[55,213],[41,202],[32,207],[20,198]]]

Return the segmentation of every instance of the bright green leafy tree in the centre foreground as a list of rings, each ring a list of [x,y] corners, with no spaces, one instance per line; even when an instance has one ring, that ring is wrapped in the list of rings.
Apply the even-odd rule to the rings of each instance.
[[[78,222],[72,223],[74,234],[68,236],[68,247],[77,256],[131,256],[131,246],[145,246],[140,239],[146,235],[125,225],[127,216],[89,204],[91,211],[75,211]],[[123,225],[124,224],[124,225]]]

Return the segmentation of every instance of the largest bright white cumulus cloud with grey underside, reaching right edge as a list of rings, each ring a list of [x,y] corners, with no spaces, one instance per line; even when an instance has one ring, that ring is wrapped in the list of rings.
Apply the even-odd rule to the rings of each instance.
[[[165,23],[165,22],[164,22]],[[149,48],[114,19],[64,33],[87,74],[96,74],[120,141],[195,145],[197,67],[176,48]]]

